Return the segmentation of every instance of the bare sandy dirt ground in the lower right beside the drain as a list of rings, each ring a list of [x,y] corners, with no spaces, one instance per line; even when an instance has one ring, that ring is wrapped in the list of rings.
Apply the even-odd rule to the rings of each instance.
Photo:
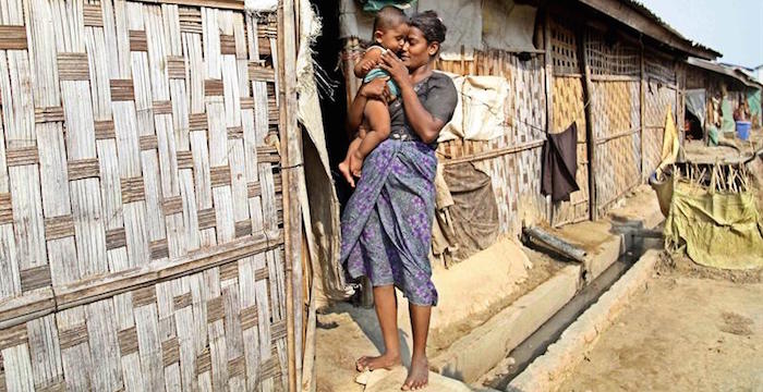
[[[668,272],[560,391],[763,391],[763,284]]]

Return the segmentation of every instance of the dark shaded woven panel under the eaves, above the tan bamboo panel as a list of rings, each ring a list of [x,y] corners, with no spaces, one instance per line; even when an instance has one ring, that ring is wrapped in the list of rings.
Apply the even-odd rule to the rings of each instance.
[[[607,42],[604,34],[589,29],[585,54],[593,75],[639,76],[641,49],[622,40]]]

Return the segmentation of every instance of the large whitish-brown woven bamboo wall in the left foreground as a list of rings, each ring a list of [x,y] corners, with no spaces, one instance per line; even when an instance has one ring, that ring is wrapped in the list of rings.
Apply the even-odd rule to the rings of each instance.
[[[275,27],[0,0],[0,391],[283,388]]]

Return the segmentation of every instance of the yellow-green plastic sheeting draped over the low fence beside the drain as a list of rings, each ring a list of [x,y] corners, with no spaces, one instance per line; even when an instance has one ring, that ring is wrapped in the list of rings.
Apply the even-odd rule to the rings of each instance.
[[[763,267],[763,226],[751,192],[710,193],[676,182],[665,237],[674,245],[686,245],[687,255],[706,267]]]

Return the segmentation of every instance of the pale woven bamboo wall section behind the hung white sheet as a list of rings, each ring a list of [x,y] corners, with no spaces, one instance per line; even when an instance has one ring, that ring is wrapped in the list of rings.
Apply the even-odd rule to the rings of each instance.
[[[471,61],[440,61],[438,66],[452,73],[504,76],[512,93],[506,102],[508,124],[502,137],[443,143],[440,161],[474,161],[491,175],[501,233],[518,233],[523,219],[547,221],[547,205],[541,195],[546,126],[543,57],[521,61],[509,52],[488,51],[475,53]]]

